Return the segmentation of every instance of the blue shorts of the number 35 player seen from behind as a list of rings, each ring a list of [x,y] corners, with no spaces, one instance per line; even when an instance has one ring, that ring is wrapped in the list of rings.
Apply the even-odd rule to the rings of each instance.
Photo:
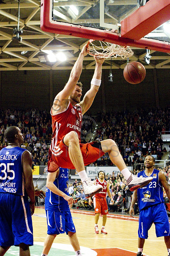
[[[33,226],[27,196],[0,193],[0,245],[33,245]]]

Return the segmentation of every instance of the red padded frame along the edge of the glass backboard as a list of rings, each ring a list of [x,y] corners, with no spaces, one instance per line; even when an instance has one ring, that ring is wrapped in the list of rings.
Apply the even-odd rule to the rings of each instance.
[[[119,44],[122,46],[129,45],[129,46],[139,47],[139,48],[143,48],[143,49],[150,49],[150,50],[154,50],[154,51],[170,53],[170,43],[169,42],[161,42],[161,41],[149,39],[149,38],[142,38],[139,40],[135,40],[135,39],[127,38],[127,37],[118,36],[116,33],[113,33],[111,31],[106,31],[106,30],[97,29],[97,28],[89,28],[89,27],[85,27],[82,25],[73,25],[73,24],[66,23],[66,22],[52,21],[50,1],[51,0],[41,0],[41,25],[40,25],[40,27],[43,31],[55,33],[55,34],[64,34],[64,35],[77,36],[77,37],[82,37],[82,38],[87,38],[87,39],[100,40],[100,41],[105,41],[105,42],[112,43],[112,44]],[[153,3],[155,1],[159,1],[159,0],[150,0],[149,1],[152,3],[152,8],[153,8]],[[161,5],[162,1],[163,2],[166,1],[168,3],[170,2],[170,0],[161,0],[161,1],[159,1],[159,5]],[[156,13],[155,13],[155,15],[156,15]],[[130,19],[130,16],[126,19]],[[123,24],[125,23],[125,20],[121,22],[122,27],[123,27]],[[149,31],[149,32],[151,32],[151,31]]]

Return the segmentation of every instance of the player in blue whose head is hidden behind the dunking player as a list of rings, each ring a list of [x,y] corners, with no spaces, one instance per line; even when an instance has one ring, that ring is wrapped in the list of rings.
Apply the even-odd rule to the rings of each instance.
[[[41,256],[47,256],[54,238],[65,232],[76,256],[82,256],[70,212],[73,203],[75,201],[68,193],[68,169],[59,168],[56,172],[49,172],[45,198],[48,231]]]

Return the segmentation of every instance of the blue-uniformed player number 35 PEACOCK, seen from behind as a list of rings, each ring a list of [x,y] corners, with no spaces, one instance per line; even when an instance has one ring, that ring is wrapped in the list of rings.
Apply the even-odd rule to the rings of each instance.
[[[35,210],[32,157],[20,148],[24,138],[18,127],[10,126],[4,136],[8,146],[0,151],[0,256],[12,245],[19,246],[20,256],[29,256]]]

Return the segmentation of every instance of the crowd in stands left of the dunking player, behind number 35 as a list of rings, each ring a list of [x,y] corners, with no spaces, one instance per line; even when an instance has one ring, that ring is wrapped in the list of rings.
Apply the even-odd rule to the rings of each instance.
[[[0,110],[0,149],[7,146],[4,131],[9,126],[18,126],[25,142],[21,146],[32,154],[33,165],[47,165],[48,145],[52,128],[50,112],[30,108],[23,110]]]

